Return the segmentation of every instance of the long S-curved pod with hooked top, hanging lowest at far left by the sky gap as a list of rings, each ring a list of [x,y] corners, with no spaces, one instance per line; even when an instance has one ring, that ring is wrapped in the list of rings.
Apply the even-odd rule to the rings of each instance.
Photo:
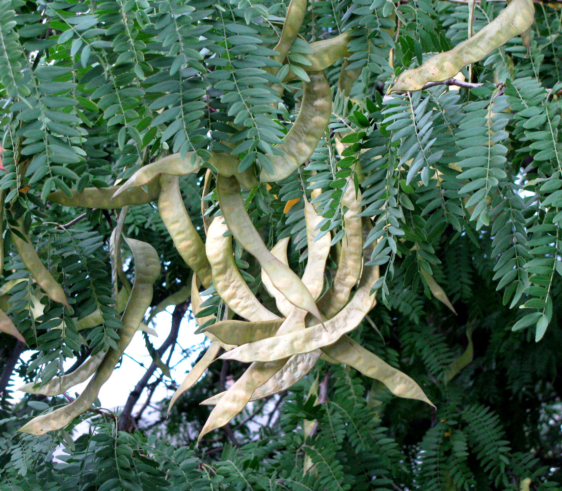
[[[33,418],[19,431],[33,435],[43,435],[47,431],[58,430],[68,425],[75,417],[92,406],[101,386],[113,373],[115,365],[129,345],[135,331],[142,322],[144,313],[152,301],[152,283],[160,274],[160,259],[156,250],[146,242],[125,239],[133,251],[135,260],[135,280],[129,301],[121,317],[123,328],[119,331],[117,349],[110,348],[102,363],[78,398],[52,413]]]

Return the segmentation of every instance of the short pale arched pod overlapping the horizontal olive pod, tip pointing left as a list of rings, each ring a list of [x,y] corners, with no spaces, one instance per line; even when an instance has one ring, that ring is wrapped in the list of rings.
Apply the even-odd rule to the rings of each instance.
[[[179,154],[168,155],[137,170],[137,172],[129,177],[129,179],[127,179],[124,184],[121,184],[119,189],[115,191],[114,197],[119,196],[128,189],[144,186],[161,174],[193,174],[201,169],[202,165],[200,157],[193,152],[187,154],[184,159],[182,159]]]

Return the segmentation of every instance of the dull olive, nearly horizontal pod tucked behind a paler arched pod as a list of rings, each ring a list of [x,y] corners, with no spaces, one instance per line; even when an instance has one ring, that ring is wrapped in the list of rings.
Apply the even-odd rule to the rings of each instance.
[[[81,192],[72,190],[72,196],[67,196],[63,191],[55,191],[47,196],[47,200],[63,206],[111,210],[123,208],[126,205],[144,205],[157,200],[158,195],[160,195],[160,184],[158,182],[149,183],[148,192],[142,188],[137,188],[113,197],[119,189],[119,186],[87,187]]]

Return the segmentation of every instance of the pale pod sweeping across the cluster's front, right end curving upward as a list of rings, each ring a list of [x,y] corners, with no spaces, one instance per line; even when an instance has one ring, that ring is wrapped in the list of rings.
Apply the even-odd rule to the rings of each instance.
[[[375,295],[369,295],[371,286],[378,280],[378,267],[368,267],[361,278],[359,288],[350,302],[333,318],[324,322],[324,326],[315,325],[305,330],[270,337],[255,343],[248,343],[224,353],[220,358],[234,359],[241,362],[269,362],[291,357],[299,353],[308,353],[336,341],[355,329],[361,323],[373,305]],[[287,322],[287,321],[285,321]]]

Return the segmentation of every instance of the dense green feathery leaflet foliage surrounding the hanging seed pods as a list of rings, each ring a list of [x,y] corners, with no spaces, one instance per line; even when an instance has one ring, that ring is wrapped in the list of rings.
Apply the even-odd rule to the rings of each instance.
[[[217,431],[196,450],[193,435],[208,413],[194,406],[216,392],[220,368],[170,420],[130,434],[103,418],[78,438],[70,429],[17,434],[31,412],[64,401],[15,405],[6,390],[2,489],[516,490],[525,489],[526,478],[530,489],[560,489],[560,6],[537,2],[529,53],[512,39],[473,67],[478,86],[384,97],[399,71],[466,39],[467,3],[311,2],[302,39],[273,76],[267,69],[275,65],[270,56],[285,3],[0,2],[2,277],[25,280],[0,300],[33,350],[29,363],[16,366],[21,376],[47,382],[62,373],[65,359],[86,353],[84,343],[101,350],[120,328],[107,261],[115,218],[97,209],[61,227],[84,210],[53,204],[49,194],[110,186],[171,152],[203,159],[228,152],[241,170],[267,167],[298,109],[307,43],[351,31],[348,68],[361,75],[342,94],[341,62],[326,71],[334,100],[329,131],[300,172],[245,197],[270,246],[292,237],[298,271],[306,259],[303,202],[284,214],[285,202],[321,188],[320,232],[341,238],[341,188],[356,176],[374,226],[366,243],[381,239],[370,264],[381,266],[382,277],[371,322],[352,336],[413,377],[437,406],[433,413],[345,368],[319,364],[282,394],[269,425],[242,424],[234,439]],[[478,2],[475,30],[501,8]],[[297,79],[279,97],[271,84],[288,69]],[[348,145],[341,157],[338,133]],[[198,227],[201,192],[201,173],[182,180]],[[211,215],[216,196],[205,199]],[[102,325],[78,332],[68,312],[40,294],[44,311],[31,314],[34,285],[11,239],[19,218],[75,316],[100,308]],[[125,232],[161,256],[153,305],[189,284],[152,204],[132,207]],[[255,263],[239,259],[241,266],[248,261],[244,274],[262,295]],[[456,316],[432,298],[422,271],[447,292]],[[221,308],[217,298],[210,305]],[[53,329],[60,319],[66,328]],[[468,327],[474,358],[451,378]],[[15,341],[2,334],[2,343],[0,363],[7,366]],[[307,393],[316,377],[328,391],[314,406]],[[305,419],[317,424],[307,439]],[[59,445],[65,454],[55,459]],[[305,456],[314,467],[303,474]]]

